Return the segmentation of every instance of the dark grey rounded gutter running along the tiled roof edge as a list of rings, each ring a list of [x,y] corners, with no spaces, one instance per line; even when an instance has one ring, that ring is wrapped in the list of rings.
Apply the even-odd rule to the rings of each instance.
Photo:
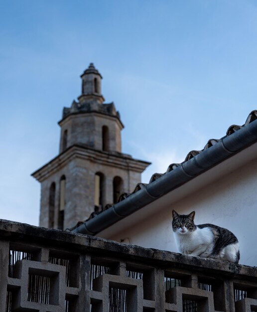
[[[257,120],[222,138],[212,147],[163,174],[145,188],[85,221],[73,232],[95,235],[256,142]]]

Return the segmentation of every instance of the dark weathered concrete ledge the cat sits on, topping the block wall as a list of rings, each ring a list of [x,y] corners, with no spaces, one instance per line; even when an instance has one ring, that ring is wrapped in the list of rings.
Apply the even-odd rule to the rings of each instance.
[[[119,259],[136,260],[144,265],[154,265],[166,270],[170,267],[194,270],[209,275],[222,275],[247,279],[257,282],[257,268],[220,260],[190,257],[174,252],[126,245],[95,236],[76,234],[60,230],[47,229],[24,223],[0,219],[0,239],[20,242],[35,242],[44,245],[58,246],[69,251],[90,251],[91,254]]]

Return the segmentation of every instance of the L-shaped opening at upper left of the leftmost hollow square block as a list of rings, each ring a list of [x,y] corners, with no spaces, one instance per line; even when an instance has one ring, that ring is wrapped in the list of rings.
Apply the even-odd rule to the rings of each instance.
[[[28,248],[23,245],[10,244],[8,259],[8,277],[20,278],[18,263],[22,260],[39,261],[40,249]]]

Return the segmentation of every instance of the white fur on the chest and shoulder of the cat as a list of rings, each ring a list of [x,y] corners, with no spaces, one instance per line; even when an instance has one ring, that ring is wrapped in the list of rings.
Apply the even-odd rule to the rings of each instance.
[[[196,228],[193,232],[187,232],[185,234],[180,234],[174,232],[174,238],[179,252],[183,254],[190,254],[200,245],[213,244],[213,233],[208,227],[199,229]]]

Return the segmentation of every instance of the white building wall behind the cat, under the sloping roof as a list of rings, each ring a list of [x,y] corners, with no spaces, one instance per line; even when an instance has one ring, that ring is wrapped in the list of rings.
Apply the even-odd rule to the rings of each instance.
[[[105,230],[98,236],[177,252],[171,227],[172,209],[180,214],[195,210],[196,224],[212,223],[232,231],[240,243],[240,263],[257,266],[257,159],[230,170],[231,159],[219,165],[219,170],[229,171],[226,175],[194,190],[197,179],[204,181],[207,175],[215,175],[216,166],[183,185],[184,190],[191,188],[186,197],[181,196],[182,190],[174,190],[120,221],[120,225],[117,223],[116,232]],[[177,196],[172,196],[176,192]]]

